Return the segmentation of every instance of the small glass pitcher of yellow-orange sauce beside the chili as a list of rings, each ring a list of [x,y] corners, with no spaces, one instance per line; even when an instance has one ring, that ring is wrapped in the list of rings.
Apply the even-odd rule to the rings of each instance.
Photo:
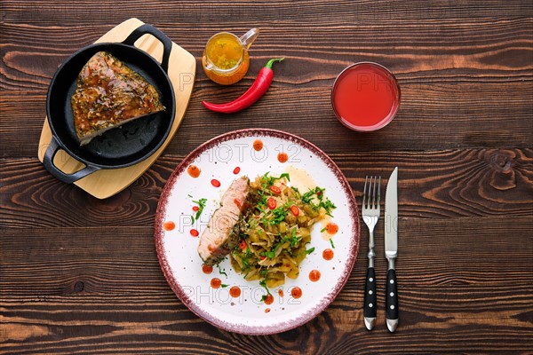
[[[240,38],[229,32],[219,32],[212,36],[207,41],[202,56],[205,75],[213,82],[223,85],[243,79],[250,66],[248,49],[258,35],[259,28],[251,28]]]

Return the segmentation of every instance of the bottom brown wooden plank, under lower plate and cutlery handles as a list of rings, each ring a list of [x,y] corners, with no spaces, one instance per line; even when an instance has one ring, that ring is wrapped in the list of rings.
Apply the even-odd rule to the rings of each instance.
[[[358,262],[346,287],[317,319],[255,341],[207,325],[179,303],[159,270],[151,227],[62,228],[60,235],[57,228],[45,228],[38,235],[12,230],[0,245],[11,250],[4,256],[0,280],[9,339],[4,350],[91,353],[110,346],[157,353],[173,346],[176,351],[208,353],[236,345],[243,353],[418,353],[445,350],[452,342],[453,352],[525,351],[533,312],[533,241],[528,234],[533,223],[516,222],[469,217],[458,227],[453,219],[402,219],[410,233],[402,235],[397,264],[402,271],[402,329],[395,335],[383,321],[371,333],[362,327],[366,265]],[[366,231],[362,248],[367,246],[365,237]],[[383,248],[382,240],[377,247]],[[28,262],[34,253],[41,255],[40,262]],[[496,267],[505,265],[509,255],[513,268]],[[363,258],[364,254],[360,261]],[[384,259],[377,260],[376,272],[384,277]],[[383,292],[378,288],[379,294]],[[382,301],[378,299],[380,310]],[[385,319],[385,314],[378,313],[378,318]],[[31,345],[36,340],[39,343]]]

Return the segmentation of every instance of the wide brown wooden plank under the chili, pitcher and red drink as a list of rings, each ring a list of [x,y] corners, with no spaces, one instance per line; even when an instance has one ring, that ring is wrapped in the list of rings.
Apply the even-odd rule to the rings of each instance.
[[[372,26],[328,22],[323,27],[310,25],[311,30],[305,34],[298,33],[301,24],[266,21],[264,26],[258,25],[262,33],[251,49],[254,60],[242,82],[227,88],[213,85],[197,60],[195,91],[167,152],[188,154],[191,147],[206,138],[248,127],[282,127],[311,139],[328,154],[530,146],[533,123],[524,118],[533,115],[533,34],[529,30],[533,20],[497,19],[474,18],[460,23],[410,20],[395,21],[394,25],[384,19],[376,20]],[[196,59],[202,55],[205,39],[214,31],[211,25],[197,28],[196,24],[184,23],[158,27]],[[55,69],[72,51],[92,43],[110,27],[100,25],[88,30],[10,24],[4,28],[10,51],[0,63],[4,72],[0,87],[16,90],[0,98],[0,107],[9,117],[0,122],[0,156],[9,156],[10,147],[16,144],[20,148],[11,154],[31,157],[42,128],[44,95]],[[222,22],[219,28],[227,25]],[[244,32],[245,28],[242,24],[240,28],[227,29]],[[21,41],[22,34],[30,38]],[[72,37],[69,45],[64,40],[66,34]],[[280,54],[287,60],[275,68],[273,87],[253,112],[244,111],[227,119],[201,105],[203,99],[235,98],[251,84],[267,58]],[[397,118],[386,129],[367,135],[346,130],[335,121],[329,105],[330,86],[336,75],[360,60],[374,60],[390,67],[402,88]],[[36,61],[42,65],[36,66]],[[313,99],[299,105],[306,96]],[[20,105],[27,110],[20,111]],[[210,123],[207,130],[206,121]],[[195,134],[199,129],[204,130],[204,135]],[[337,138],[335,142],[330,139],[332,136]]]

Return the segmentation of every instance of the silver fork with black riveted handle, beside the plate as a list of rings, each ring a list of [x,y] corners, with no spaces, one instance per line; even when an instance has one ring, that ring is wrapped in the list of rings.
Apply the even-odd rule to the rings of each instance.
[[[379,180],[378,180],[379,178]],[[373,182],[372,182],[373,180]],[[378,193],[376,193],[376,185],[378,185]],[[368,189],[367,189],[368,186]],[[381,177],[365,177],[364,189],[362,192],[362,220],[369,227],[369,268],[367,271],[367,278],[364,289],[364,325],[367,329],[372,330],[376,324],[376,272],[374,271],[374,227],[378,224],[379,219],[379,204],[380,204],[380,186]]]

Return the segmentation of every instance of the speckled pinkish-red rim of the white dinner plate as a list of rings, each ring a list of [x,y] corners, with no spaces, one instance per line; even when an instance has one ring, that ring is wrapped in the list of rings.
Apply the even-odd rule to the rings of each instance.
[[[272,138],[282,138],[287,139],[291,142],[298,143],[299,145],[305,147],[315,154],[318,158],[325,162],[331,172],[338,178],[338,181],[343,187],[346,199],[348,201],[348,209],[350,217],[352,218],[354,224],[352,228],[352,239],[350,241],[350,254],[346,260],[346,269],[343,275],[338,280],[338,283],[333,288],[333,291],[327,296],[320,300],[318,304],[310,312],[306,312],[300,315],[297,319],[289,323],[282,325],[273,325],[273,326],[253,326],[251,324],[240,324],[233,325],[225,322],[223,319],[218,319],[213,317],[209,312],[204,311],[197,304],[195,304],[190,298],[187,297],[187,293],[181,288],[179,281],[174,277],[171,266],[166,258],[164,252],[164,242],[163,242],[163,218],[166,215],[166,206],[168,204],[168,199],[170,197],[171,189],[173,185],[178,181],[181,174],[187,169],[187,166],[191,162],[194,162],[195,159],[202,154],[205,150],[210,149],[213,146],[218,145],[219,143],[225,142],[230,139],[243,138],[243,137],[272,137]],[[331,158],[322,152],[320,148],[314,146],[314,144],[308,142],[304,138],[299,138],[293,134],[284,132],[282,130],[272,130],[272,129],[244,129],[244,130],[233,130],[227,133],[224,133],[218,137],[211,138],[210,140],[203,143],[201,146],[198,146],[193,150],[187,157],[179,163],[178,167],[172,171],[171,177],[169,177],[167,183],[164,185],[163,192],[161,193],[161,198],[157,204],[157,210],[155,212],[155,249],[157,252],[157,258],[159,259],[159,264],[161,270],[163,271],[164,277],[171,286],[172,291],[179,297],[181,302],[187,306],[189,310],[194,312],[198,317],[206,320],[212,325],[219,327],[221,329],[235,332],[243,335],[272,335],[276,333],[282,333],[284,331],[299,327],[311,319],[314,319],[318,314],[320,314],[331,302],[338,296],[340,290],[345,286],[346,281],[350,277],[352,270],[354,269],[355,259],[359,250],[361,238],[361,228],[359,222],[359,210],[357,209],[357,203],[355,202],[354,193],[350,187],[346,177],[342,171],[338,168],[337,164],[331,160]]]

